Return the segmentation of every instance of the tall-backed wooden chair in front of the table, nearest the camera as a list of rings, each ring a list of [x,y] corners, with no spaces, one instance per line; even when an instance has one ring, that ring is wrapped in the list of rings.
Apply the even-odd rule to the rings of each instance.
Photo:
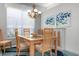
[[[50,55],[52,55],[52,32],[50,30],[43,31],[43,42],[36,45],[36,50],[41,52],[42,56],[46,51],[50,51]]]

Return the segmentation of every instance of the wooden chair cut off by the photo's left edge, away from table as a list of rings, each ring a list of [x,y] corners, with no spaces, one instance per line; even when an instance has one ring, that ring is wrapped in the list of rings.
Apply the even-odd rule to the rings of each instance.
[[[11,48],[12,47],[12,41],[8,40],[8,39],[4,39],[4,35],[3,35],[3,30],[0,29],[0,48],[5,50],[6,48]]]

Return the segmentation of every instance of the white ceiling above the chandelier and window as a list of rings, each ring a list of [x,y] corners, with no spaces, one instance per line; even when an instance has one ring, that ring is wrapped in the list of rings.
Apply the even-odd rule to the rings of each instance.
[[[36,8],[42,12],[59,5],[59,3],[34,3],[34,4]],[[10,3],[10,4],[7,3],[7,6],[26,10],[30,9],[33,6],[33,3]]]

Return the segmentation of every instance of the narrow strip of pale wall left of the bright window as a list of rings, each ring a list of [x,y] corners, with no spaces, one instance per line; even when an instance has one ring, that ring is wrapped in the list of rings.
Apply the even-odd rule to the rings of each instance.
[[[0,3],[0,28],[3,30],[4,38],[6,37],[6,7]]]

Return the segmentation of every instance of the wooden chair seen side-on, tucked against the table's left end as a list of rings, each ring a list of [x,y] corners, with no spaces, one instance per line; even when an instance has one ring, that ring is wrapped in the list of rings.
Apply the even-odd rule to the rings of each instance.
[[[15,37],[16,37],[16,55],[19,56],[21,51],[24,49],[28,49],[28,46],[25,42],[22,42],[22,38],[18,36],[18,29],[15,29]],[[21,40],[22,39],[22,40]]]

